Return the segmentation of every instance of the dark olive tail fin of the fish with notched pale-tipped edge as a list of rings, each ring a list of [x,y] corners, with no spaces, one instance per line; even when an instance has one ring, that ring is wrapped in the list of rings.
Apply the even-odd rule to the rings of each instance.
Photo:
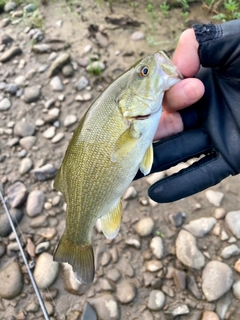
[[[55,249],[53,259],[69,263],[81,283],[90,285],[93,282],[95,267],[91,244],[77,244],[63,235]]]

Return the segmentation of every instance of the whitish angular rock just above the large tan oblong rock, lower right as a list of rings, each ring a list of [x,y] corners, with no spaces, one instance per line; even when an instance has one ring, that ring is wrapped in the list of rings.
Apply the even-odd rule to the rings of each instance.
[[[215,218],[204,217],[190,221],[190,223],[184,225],[183,228],[191,232],[195,237],[204,237],[212,230],[216,223],[217,220]]]

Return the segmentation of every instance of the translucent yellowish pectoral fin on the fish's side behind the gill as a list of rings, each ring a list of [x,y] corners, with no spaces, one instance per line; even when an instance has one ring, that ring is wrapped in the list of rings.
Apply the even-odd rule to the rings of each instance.
[[[116,162],[118,159],[121,159],[128,154],[134,148],[140,136],[141,134],[135,131],[134,126],[131,125],[120,135],[119,139],[117,140],[111,160]]]

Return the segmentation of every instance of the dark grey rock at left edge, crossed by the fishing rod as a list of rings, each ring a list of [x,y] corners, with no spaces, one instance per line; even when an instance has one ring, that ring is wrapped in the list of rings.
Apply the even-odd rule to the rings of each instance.
[[[12,208],[9,211],[13,220],[13,224],[16,227],[23,218],[23,211],[16,208]],[[11,232],[11,225],[6,213],[4,212],[0,214],[0,237],[8,237]]]

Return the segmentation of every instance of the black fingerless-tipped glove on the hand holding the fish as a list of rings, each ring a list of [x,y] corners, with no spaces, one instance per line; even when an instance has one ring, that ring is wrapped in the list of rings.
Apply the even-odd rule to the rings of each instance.
[[[184,131],[154,144],[153,172],[205,157],[149,189],[157,202],[171,202],[240,172],[240,19],[193,27],[205,86],[198,103],[180,112]]]

